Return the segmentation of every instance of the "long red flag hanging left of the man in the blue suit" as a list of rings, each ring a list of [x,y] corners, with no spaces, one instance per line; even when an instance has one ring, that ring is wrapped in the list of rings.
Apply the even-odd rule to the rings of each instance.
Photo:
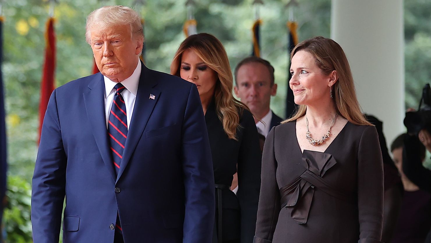
[[[55,72],[55,32],[54,18],[47,21],[47,30],[45,33],[45,62],[41,82],[41,101],[39,104],[39,140],[41,139],[42,123],[44,122],[45,111],[47,110],[48,101],[54,90],[54,72]]]

